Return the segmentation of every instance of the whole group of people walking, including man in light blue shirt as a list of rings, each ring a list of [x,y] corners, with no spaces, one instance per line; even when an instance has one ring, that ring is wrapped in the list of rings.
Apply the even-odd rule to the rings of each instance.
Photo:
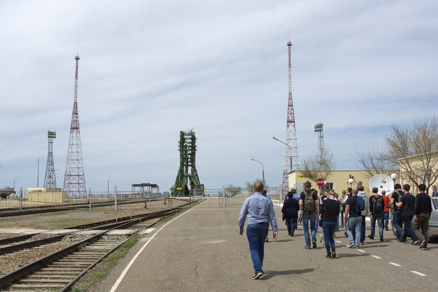
[[[389,199],[385,191],[378,194],[378,188],[372,189],[372,195],[367,196],[362,184],[352,189],[343,191],[341,200],[334,190],[329,190],[326,195],[317,196],[317,191],[311,189],[311,183],[304,184],[305,190],[300,196],[292,189],[288,192],[281,210],[281,218],[285,221],[288,236],[293,237],[299,220],[302,219],[306,249],[316,248],[316,232],[319,224],[324,232],[324,243],[327,258],[336,257],[334,232],[339,229],[339,217],[342,226],[347,228],[349,248],[359,248],[365,241],[365,217],[370,213],[371,233],[369,239],[376,235],[376,221],[379,228],[379,237],[383,241],[383,230],[388,230],[389,212],[393,209],[393,224],[397,230],[397,239],[405,243],[408,235],[412,237],[411,245],[420,243],[420,249],[427,249],[428,227],[432,202],[425,193],[426,186],[418,186],[420,193],[413,196],[409,193],[410,185],[395,184],[395,191]],[[263,276],[262,270],[264,257],[264,243],[267,240],[269,223],[273,228],[274,240],[278,237],[277,222],[275,219],[274,205],[269,197],[263,195],[263,184],[256,183],[255,194],[245,200],[239,213],[239,234],[243,235],[245,219],[248,218],[247,237],[254,264],[255,274],[253,279]],[[266,194],[266,193],[265,193]],[[393,207],[391,207],[393,206]],[[298,212],[302,210],[302,218],[298,219]],[[411,221],[415,217],[414,225]],[[310,223],[310,234],[309,234]],[[404,225],[404,230],[402,226]],[[421,231],[420,231],[421,230]]]

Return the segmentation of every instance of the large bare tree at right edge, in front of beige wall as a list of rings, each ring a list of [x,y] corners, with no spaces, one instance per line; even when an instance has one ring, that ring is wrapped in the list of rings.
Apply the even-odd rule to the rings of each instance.
[[[401,177],[418,188],[429,189],[438,177],[438,119],[436,116],[415,119],[409,128],[391,126],[385,136],[386,155],[390,163],[400,167]]]

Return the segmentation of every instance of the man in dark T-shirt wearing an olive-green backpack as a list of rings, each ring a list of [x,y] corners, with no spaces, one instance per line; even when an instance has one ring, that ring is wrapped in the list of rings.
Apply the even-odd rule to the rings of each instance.
[[[304,183],[305,190],[300,194],[300,207],[303,207],[303,229],[304,229],[304,239],[306,240],[306,248],[310,247],[310,236],[309,236],[309,221],[310,221],[310,232],[312,236],[313,248],[316,248],[316,229],[315,222],[319,220],[319,204],[318,196],[310,188],[312,183]]]

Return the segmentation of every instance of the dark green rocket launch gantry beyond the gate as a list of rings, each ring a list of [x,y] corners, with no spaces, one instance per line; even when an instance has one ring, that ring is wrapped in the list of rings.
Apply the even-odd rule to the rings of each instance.
[[[196,170],[196,136],[193,130],[188,132],[180,131],[180,169],[171,188],[172,196],[188,197],[190,189],[192,195],[203,195],[204,185],[200,183],[198,171]]]

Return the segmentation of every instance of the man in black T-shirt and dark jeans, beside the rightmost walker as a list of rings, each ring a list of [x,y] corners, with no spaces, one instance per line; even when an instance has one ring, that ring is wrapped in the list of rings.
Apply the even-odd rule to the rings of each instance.
[[[418,237],[415,235],[414,229],[412,229],[411,221],[414,218],[414,208],[415,208],[415,197],[409,190],[411,186],[409,184],[403,184],[404,195],[400,198],[399,202],[396,203],[397,207],[402,208],[402,220],[404,224],[404,231],[400,243],[406,243],[406,238],[409,235],[412,237],[411,245],[416,245],[420,242]]]

